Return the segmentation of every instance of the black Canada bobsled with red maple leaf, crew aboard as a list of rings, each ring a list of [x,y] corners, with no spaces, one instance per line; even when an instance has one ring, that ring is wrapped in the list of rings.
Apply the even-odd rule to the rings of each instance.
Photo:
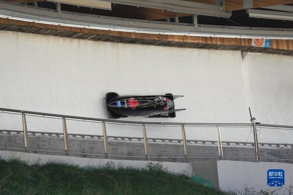
[[[127,116],[176,117],[176,112],[185,109],[174,109],[174,99],[183,96],[172,94],[137,96],[119,96],[115,92],[106,94],[106,106],[111,118]]]

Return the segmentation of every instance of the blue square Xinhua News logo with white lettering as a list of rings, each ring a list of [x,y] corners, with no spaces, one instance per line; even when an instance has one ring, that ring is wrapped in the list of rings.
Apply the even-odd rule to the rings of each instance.
[[[285,185],[285,171],[283,169],[268,170],[268,186],[282,187]]]

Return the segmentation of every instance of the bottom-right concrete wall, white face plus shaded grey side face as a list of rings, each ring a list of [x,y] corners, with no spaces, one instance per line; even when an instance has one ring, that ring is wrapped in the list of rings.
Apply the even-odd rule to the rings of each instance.
[[[277,194],[288,194],[286,188],[293,185],[293,165],[275,162],[240,162],[240,161],[210,161],[193,162],[193,173],[212,182],[213,186],[225,191],[244,191],[245,187],[260,190],[275,190]],[[267,185],[267,171],[269,169],[283,169],[285,171],[285,185],[283,187],[269,187]]]

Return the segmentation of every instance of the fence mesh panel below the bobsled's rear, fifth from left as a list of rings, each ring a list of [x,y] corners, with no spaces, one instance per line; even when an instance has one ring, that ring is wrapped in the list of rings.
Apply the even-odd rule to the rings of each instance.
[[[185,158],[182,127],[174,125],[146,125],[150,158],[168,161],[166,158]],[[153,159],[154,160],[154,159]]]

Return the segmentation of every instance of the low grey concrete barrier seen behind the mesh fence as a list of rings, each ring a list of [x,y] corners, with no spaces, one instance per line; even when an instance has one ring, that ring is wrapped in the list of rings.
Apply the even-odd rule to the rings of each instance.
[[[63,135],[33,136],[29,134],[29,147],[31,153],[65,156]],[[0,133],[1,150],[24,150],[23,134]],[[227,145],[229,144],[229,145]],[[117,160],[146,160],[143,139],[109,139],[110,159]],[[150,160],[168,162],[186,162],[183,143],[178,141],[161,140],[148,142]],[[187,144],[190,161],[217,161],[219,151],[217,142],[193,141]],[[292,146],[277,147],[268,144],[259,146],[260,158],[264,162],[293,163]],[[70,156],[85,158],[106,158],[103,138],[81,139],[69,137]],[[255,162],[255,151],[251,144],[232,145],[223,143],[224,160]]]

